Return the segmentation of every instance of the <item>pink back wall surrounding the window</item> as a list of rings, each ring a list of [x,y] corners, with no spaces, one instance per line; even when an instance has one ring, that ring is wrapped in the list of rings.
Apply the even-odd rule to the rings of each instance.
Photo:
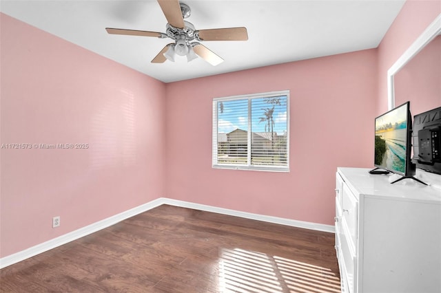
[[[376,50],[167,85],[165,195],[334,224],[337,166],[371,166]],[[290,90],[290,173],[212,169],[212,99]]]

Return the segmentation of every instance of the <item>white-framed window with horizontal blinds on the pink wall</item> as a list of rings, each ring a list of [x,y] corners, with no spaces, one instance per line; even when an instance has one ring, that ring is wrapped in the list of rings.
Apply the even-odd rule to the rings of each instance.
[[[289,171],[289,91],[214,98],[213,168]]]

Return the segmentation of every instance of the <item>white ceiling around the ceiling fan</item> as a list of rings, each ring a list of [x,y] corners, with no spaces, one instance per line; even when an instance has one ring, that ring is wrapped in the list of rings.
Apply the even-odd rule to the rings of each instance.
[[[245,26],[248,41],[206,41],[216,67],[183,56],[150,63],[171,39],[107,34],[165,32],[155,0],[1,0],[0,11],[165,83],[377,47],[405,0],[183,0],[196,30]]]

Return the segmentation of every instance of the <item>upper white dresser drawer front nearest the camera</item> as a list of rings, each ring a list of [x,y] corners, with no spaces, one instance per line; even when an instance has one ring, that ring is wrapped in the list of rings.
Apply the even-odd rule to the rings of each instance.
[[[358,202],[346,184],[342,184],[342,222],[347,228],[348,241],[356,252]]]

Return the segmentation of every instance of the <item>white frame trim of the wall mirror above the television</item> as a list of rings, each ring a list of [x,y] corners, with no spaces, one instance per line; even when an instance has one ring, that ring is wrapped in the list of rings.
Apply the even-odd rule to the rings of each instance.
[[[395,107],[393,75],[402,69],[402,67],[404,67],[404,65],[406,65],[409,61],[411,61],[411,58],[416,56],[416,54],[418,54],[418,52],[420,52],[424,46],[432,41],[435,36],[438,36],[438,34],[441,34],[441,13],[387,71],[387,105],[389,110]]]

